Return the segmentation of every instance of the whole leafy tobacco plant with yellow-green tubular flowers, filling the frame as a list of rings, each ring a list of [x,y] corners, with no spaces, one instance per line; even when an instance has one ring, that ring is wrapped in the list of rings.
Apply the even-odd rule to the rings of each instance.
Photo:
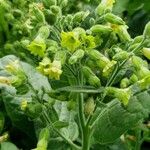
[[[66,0],[27,3],[25,28],[12,29],[21,35],[1,30],[3,50],[23,50],[0,59],[1,149],[17,149],[8,119],[29,139],[13,141],[22,149],[140,150],[150,140],[150,22],[132,39],[115,0],[73,13]]]

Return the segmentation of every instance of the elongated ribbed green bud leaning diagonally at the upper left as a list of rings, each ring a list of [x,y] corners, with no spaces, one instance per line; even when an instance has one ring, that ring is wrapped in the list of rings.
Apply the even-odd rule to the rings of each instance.
[[[32,11],[38,22],[45,23],[44,14],[36,5],[33,6]]]

